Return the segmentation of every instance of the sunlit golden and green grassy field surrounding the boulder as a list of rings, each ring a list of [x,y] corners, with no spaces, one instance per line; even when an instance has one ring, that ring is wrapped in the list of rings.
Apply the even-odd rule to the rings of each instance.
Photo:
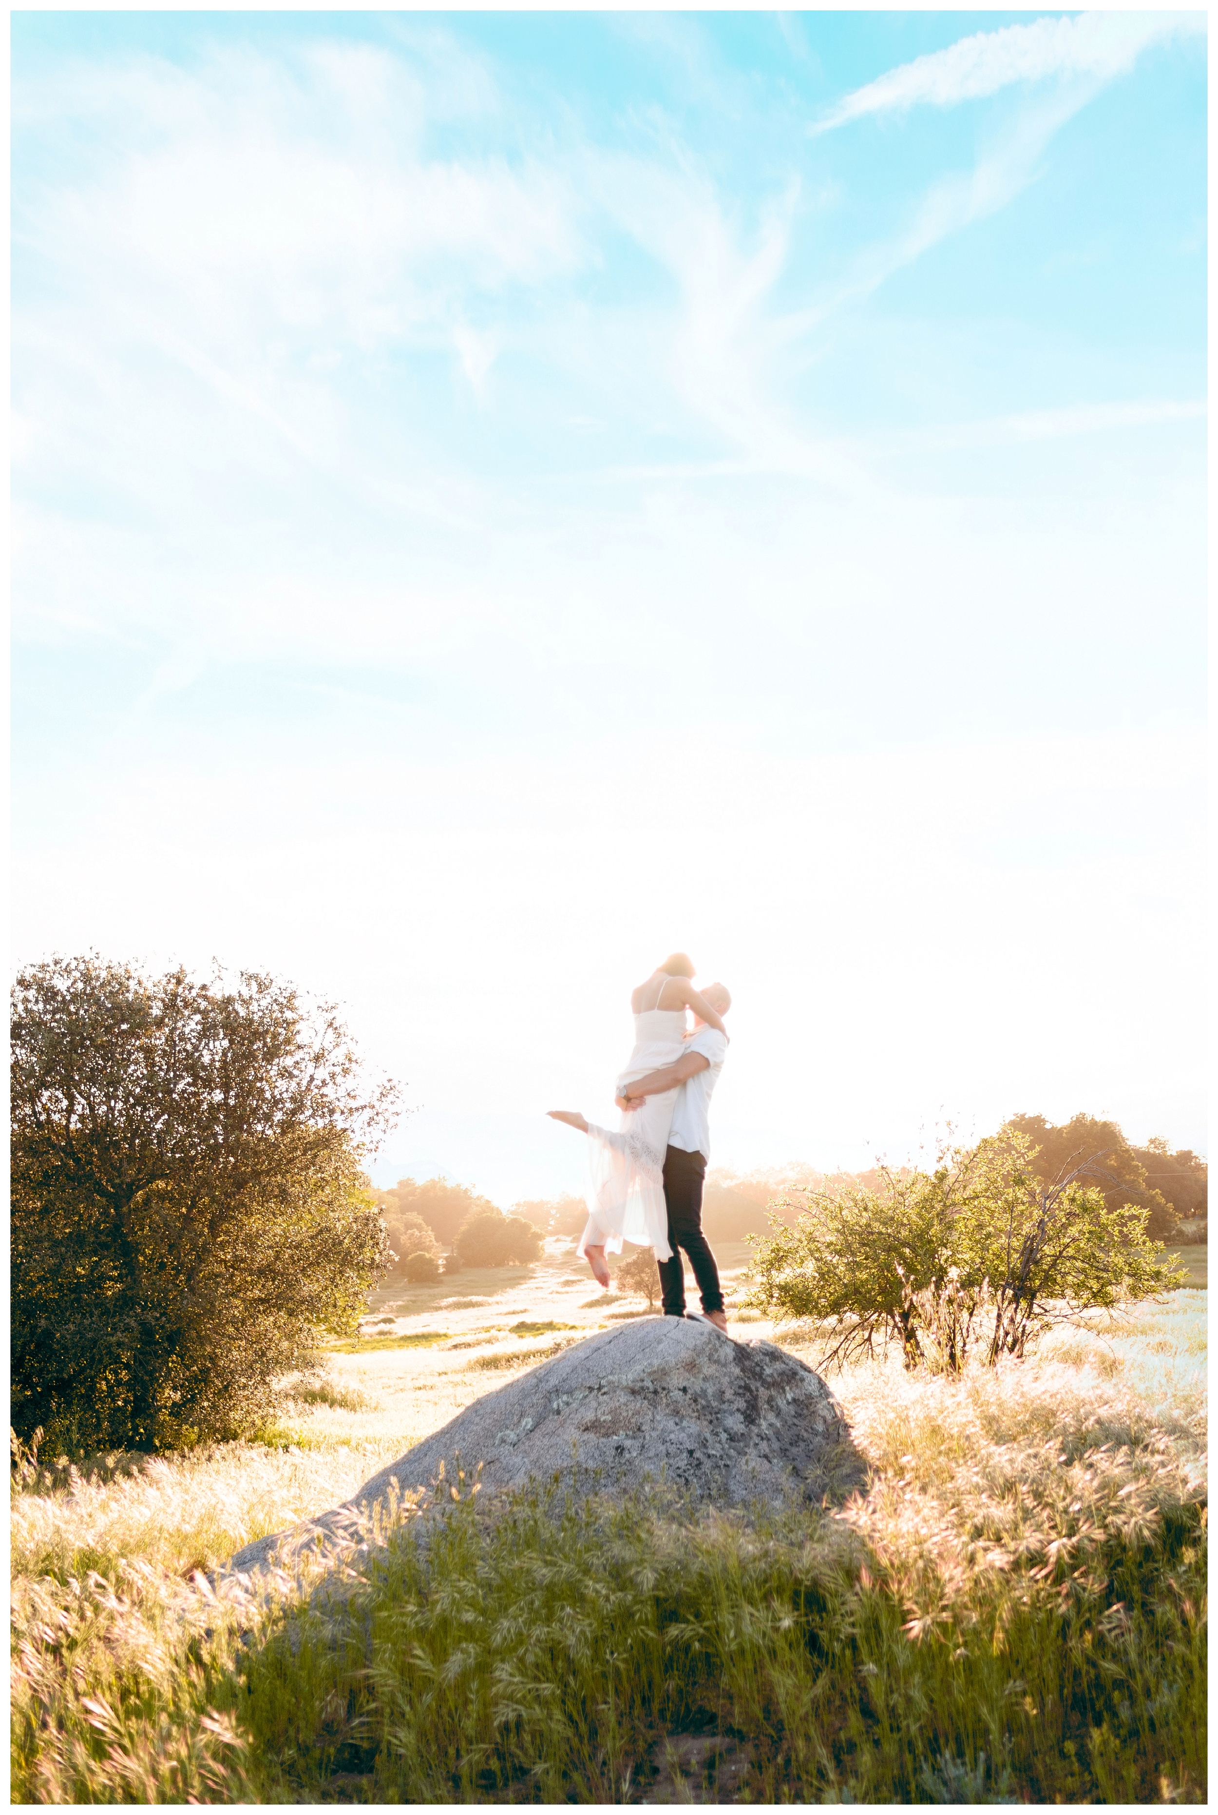
[[[810,1358],[739,1310],[746,1249],[721,1261],[735,1334]],[[198,1574],[639,1314],[552,1243],[378,1292],[261,1443],[18,1474],[15,1800],[1203,1800],[1194,1285],[998,1374],[835,1376],[869,1463],[846,1506],[555,1517],[457,1485],[341,1597]]]

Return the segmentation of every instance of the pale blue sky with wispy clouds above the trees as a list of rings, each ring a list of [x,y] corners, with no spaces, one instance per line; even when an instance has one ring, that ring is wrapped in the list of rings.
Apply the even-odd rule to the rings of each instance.
[[[13,20],[18,962],[270,967],[579,1189],[1203,1147],[1203,15]]]

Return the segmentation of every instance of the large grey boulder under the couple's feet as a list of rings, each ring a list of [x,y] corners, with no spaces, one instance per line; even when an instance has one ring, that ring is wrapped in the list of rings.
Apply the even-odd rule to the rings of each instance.
[[[664,1479],[726,1505],[820,1503],[859,1479],[859,1454],[819,1374],[766,1341],[733,1341],[695,1318],[639,1318],[574,1343],[476,1399],[381,1468],[343,1506],[247,1545],[229,1565],[258,1570],[283,1539],[339,1537],[390,1494],[483,1463],[485,1494],[559,1476],[577,1492]]]

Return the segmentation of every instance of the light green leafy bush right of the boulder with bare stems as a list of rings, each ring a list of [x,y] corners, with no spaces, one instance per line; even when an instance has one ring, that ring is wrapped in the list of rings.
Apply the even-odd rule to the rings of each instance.
[[[958,1370],[980,1341],[1018,1356],[1064,1316],[1173,1283],[1147,1212],[1109,1205],[1095,1165],[1046,1187],[1018,1134],[942,1160],[775,1205],[750,1301],[819,1321],[826,1359],[897,1341],[906,1367]]]

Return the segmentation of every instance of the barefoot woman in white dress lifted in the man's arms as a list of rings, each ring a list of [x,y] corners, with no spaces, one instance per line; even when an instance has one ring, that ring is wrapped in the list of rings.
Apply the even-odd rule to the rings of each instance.
[[[634,1053],[617,1078],[614,1094],[628,1100],[630,1085],[648,1071],[673,1065],[684,1049],[686,1009],[704,1022],[728,1029],[690,978],[693,966],[683,951],[664,958],[630,996],[634,1011]],[[579,1238],[597,1285],[610,1283],[604,1252],[621,1254],[623,1240],[655,1249],[657,1260],[670,1260],[668,1209],[664,1207],[664,1153],[677,1091],[644,1096],[637,1109],[623,1109],[617,1129],[584,1122],[575,1109],[552,1109],[555,1122],[566,1122],[588,1136],[590,1185],[588,1227]]]

